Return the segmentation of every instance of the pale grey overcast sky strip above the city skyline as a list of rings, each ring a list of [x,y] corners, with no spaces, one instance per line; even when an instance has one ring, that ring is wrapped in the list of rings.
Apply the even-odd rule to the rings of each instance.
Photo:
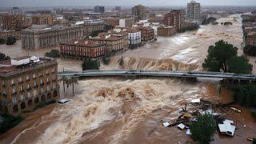
[[[10,6],[186,6],[190,0],[0,0]],[[202,6],[256,6],[256,0],[197,0]]]

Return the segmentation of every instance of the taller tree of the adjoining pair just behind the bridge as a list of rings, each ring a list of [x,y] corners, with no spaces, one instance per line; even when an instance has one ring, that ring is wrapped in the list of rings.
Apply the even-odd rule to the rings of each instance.
[[[228,71],[227,63],[232,57],[236,57],[238,48],[220,40],[215,43],[215,46],[209,46],[208,55],[202,67],[210,71]]]

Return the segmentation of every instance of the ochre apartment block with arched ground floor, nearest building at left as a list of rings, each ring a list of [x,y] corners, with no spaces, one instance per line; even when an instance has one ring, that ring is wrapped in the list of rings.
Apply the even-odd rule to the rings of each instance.
[[[55,59],[21,57],[0,65],[0,113],[21,114],[40,102],[58,100],[58,63]]]

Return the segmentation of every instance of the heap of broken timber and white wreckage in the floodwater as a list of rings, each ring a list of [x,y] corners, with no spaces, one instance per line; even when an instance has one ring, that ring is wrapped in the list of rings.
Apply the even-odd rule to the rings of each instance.
[[[233,110],[236,113],[241,113],[242,111],[236,107],[226,107],[221,103],[214,103],[204,99],[193,99],[190,102],[183,103],[185,106],[181,108],[180,115],[178,118],[162,118],[162,125],[165,127],[177,126],[180,130],[186,129],[186,134],[190,133],[190,122],[197,121],[198,115],[212,114],[214,116],[215,122],[218,125],[218,130],[220,134],[226,134],[229,136],[234,136],[236,126],[234,126],[234,121],[229,120],[226,114],[229,110]]]

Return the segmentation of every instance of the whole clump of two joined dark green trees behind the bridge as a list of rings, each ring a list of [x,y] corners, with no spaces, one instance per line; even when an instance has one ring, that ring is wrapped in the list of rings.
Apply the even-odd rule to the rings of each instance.
[[[252,65],[246,57],[238,57],[238,48],[220,40],[209,46],[208,55],[202,67],[210,71],[224,71],[237,74],[250,74]]]

